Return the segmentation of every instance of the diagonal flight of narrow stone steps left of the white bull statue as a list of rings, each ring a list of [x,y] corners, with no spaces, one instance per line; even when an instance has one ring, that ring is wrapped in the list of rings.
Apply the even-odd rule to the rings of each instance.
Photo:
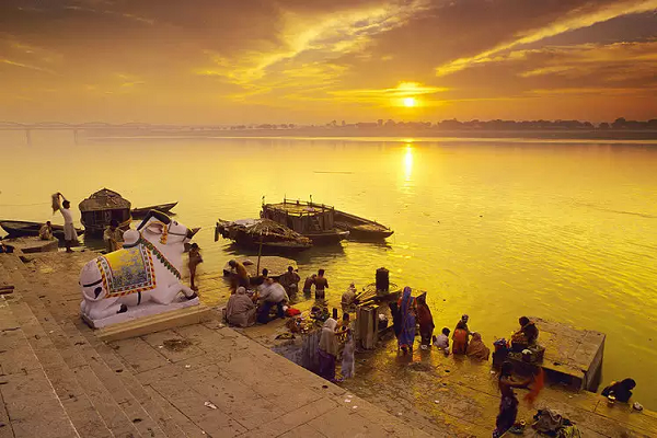
[[[77,285],[69,270],[45,276],[36,269],[37,260],[30,267],[18,257],[0,262],[16,286],[10,309],[27,344],[37,348],[35,362],[53,382],[64,416],[79,436],[185,437],[112,349],[79,318],[71,319],[79,291],[74,299],[74,291],[62,289]]]

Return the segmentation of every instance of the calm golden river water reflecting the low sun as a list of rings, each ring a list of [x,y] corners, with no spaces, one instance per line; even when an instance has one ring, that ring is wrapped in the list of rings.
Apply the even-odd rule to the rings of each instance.
[[[429,291],[438,328],[469,313],[486,342],[520,315],[607,333],[603,380],[633,377],[657,408],[657,143],[382,139],[125,139],[73,145],[69,134],[0,134],[0,217],[53,218],[107,186],[134,206],[180,200],[204,227],[205,270],[230,257],[217,218],[258,216],[261,198],[332,204],[389,224],[388,244],[346,242],[299,257],[324,267],[338,297],[350,280]],[[54,217],[56,222],[61,218]]]

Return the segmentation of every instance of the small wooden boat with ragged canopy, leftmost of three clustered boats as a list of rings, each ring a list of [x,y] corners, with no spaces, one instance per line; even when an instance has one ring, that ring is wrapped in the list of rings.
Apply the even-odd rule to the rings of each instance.
[[[215,242],[219,235],[235,244],[266,252],[297,252],[312,246],[310,239],[269,219],[243,219],[232,222],[221,220],[215,229]]]

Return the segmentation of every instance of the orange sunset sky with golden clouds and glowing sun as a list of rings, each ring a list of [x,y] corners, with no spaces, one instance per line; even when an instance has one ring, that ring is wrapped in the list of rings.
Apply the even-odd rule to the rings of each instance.
[[[657,0],[1,0],[0,120],[657,118]]]

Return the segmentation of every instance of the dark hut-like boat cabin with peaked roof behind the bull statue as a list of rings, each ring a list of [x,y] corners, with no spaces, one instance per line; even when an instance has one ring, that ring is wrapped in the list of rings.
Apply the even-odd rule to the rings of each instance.
[[[130,201],[111,189],[94,193],[81,201],[79,208],[88,234],[102,234],[112,220],[116,220],[122,229],[130,226]]]

